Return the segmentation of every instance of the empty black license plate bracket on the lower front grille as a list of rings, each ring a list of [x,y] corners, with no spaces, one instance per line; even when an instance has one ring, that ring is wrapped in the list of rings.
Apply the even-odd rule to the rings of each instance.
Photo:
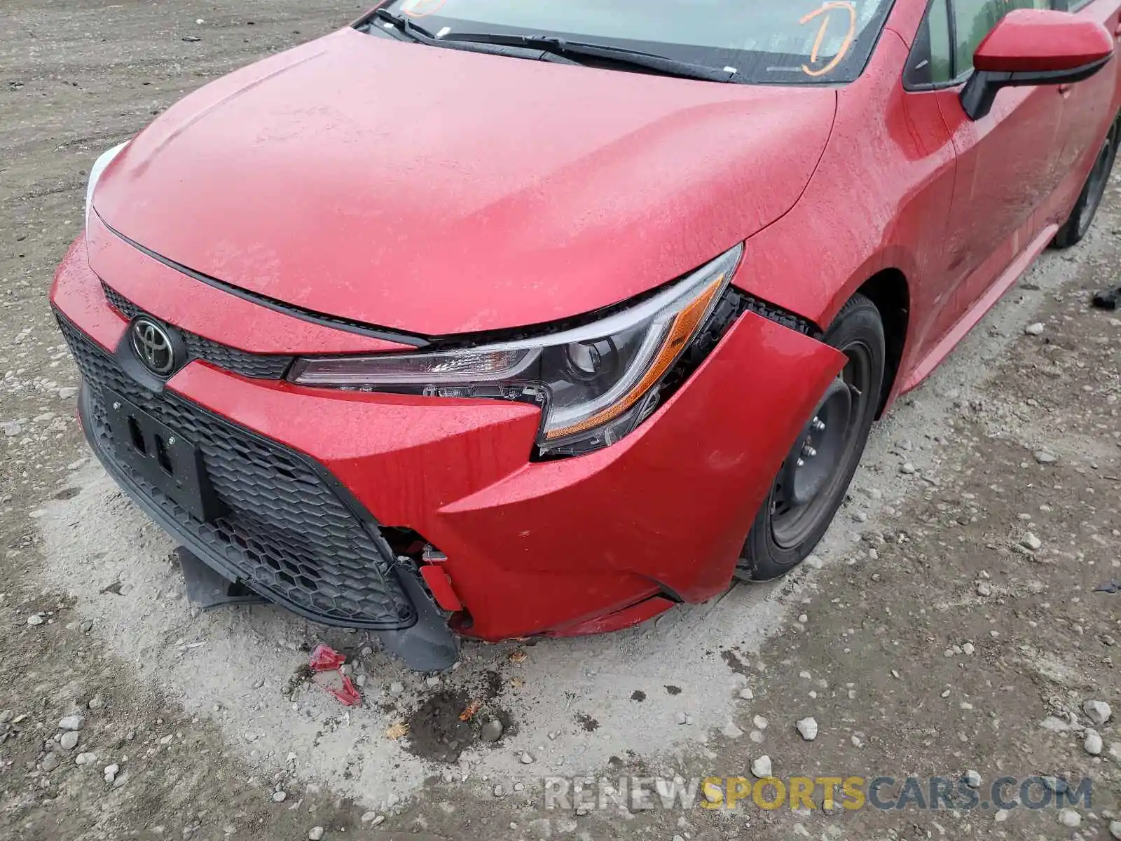
[[[105,419],[117,455],[128,466],[195,519],[222,516],[225,507],[211,487],[198,447],[112,391],[105,392]]]

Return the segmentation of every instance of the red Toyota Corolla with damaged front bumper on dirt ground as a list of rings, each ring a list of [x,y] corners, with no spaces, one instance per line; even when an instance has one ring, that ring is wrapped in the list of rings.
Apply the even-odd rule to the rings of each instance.
[[[1118,0],[1027,2],[383,3],[99,158],[86,435],[192,592],[416,668],[779,575],[1101,201]]]

